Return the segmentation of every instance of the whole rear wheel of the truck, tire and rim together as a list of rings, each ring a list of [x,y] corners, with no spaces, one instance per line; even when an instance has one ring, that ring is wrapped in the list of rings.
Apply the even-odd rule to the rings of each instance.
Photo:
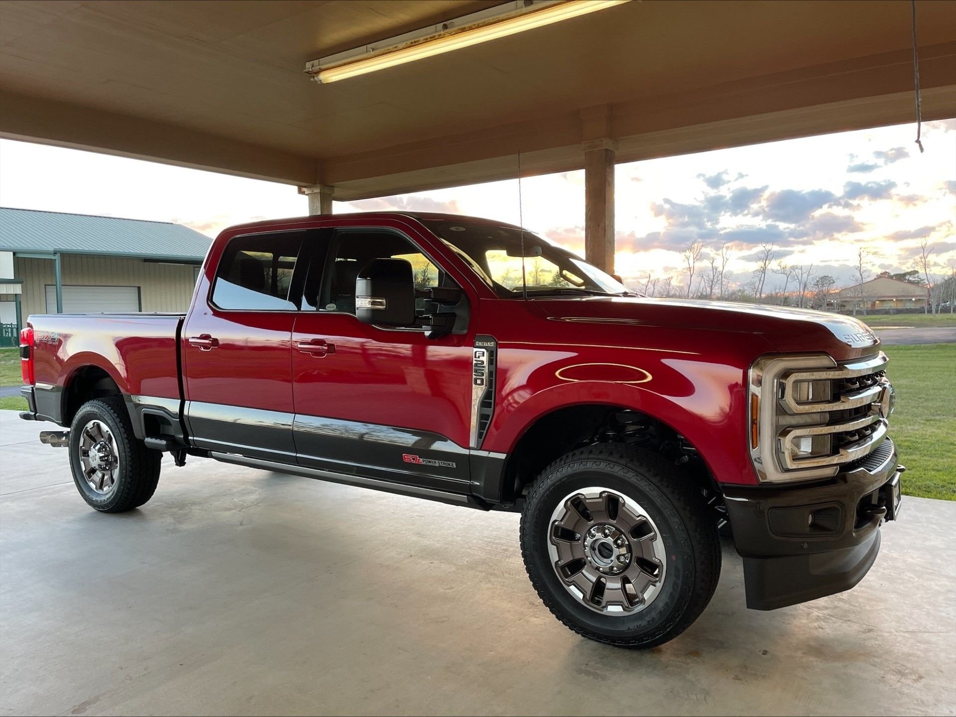
[[[120,397],[80,406],[70,427],[70,467],[76,489],[101,512],[139,508],[153,497],[163,454],[133,434]]]

